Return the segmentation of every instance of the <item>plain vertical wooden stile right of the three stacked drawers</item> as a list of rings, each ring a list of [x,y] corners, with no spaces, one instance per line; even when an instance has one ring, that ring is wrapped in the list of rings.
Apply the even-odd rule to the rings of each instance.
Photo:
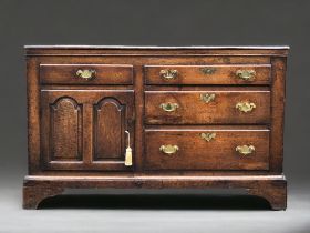
[[[271,58],[271,138],[270,172],[282,172],[283,162],[283,116],[287,58]]]

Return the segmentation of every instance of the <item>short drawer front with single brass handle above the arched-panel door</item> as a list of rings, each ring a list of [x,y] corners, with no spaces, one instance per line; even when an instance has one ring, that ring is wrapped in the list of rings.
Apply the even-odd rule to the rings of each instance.
[[[40,64],[42,84],[133,84],[127,64]]]

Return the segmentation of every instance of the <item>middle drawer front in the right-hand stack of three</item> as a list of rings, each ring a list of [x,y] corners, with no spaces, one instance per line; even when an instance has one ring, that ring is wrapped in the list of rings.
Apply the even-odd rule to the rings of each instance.
[[[269,91],[146,91],[147,124],[266,124]]]

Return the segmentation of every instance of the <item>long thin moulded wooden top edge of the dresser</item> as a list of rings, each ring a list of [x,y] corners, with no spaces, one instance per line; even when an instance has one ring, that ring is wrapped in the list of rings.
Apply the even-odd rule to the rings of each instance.
[[[289,47],[24,45],[27,55],[287,55]]]

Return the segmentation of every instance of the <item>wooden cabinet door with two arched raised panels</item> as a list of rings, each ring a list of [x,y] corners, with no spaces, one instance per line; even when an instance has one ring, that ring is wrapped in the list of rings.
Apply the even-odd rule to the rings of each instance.
[[[131,170],[134,91],[42,90],[41,162],[48,170]]]

